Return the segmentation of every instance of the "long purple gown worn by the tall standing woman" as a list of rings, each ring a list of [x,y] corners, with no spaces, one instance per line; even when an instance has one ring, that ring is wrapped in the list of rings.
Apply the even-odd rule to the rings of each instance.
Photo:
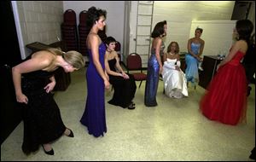
[[[105,115],[105,86],[102,77],[99,75],[95,65],[93,64],[90,49],[88,51],[90,64],[86,72],[87,100],[84,114],[80,119],[80,122],[87,126],[90,135],[98,137],[103,136],[103,133],[107,132]],[[101,43],[99,46],[99,59],[103,70],[105,70],[105,52],[106,47],[104,43]]]

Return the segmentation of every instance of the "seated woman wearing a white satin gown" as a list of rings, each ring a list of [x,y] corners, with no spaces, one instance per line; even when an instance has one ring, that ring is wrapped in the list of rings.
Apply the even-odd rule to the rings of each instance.
[[[179,47],[177,42],[172,42],[163,57],[163,81],[165,93],[169,97],[182,98],[188,96],[185,74],[180,69]]]

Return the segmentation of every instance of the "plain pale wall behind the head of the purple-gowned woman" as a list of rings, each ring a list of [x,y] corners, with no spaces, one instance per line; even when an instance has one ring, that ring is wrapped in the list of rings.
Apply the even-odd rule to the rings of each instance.
[[[107,36],[112,36],[123,48],[124,24],[125,24],[125,2],[124,1],[63,1],[63,9],[73,9],[77,15],[79,25],[79,14],[83,10],[88,10],[91,6],[107,11]],[[123,51],[123,50],[122,50]]]

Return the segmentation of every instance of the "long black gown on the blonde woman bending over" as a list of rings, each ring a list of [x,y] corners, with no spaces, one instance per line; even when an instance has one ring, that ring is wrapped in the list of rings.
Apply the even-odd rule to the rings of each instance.
[[[26,60],[30,58],[28,56]],[[28,98],[27,104],[22,103],[22,151],[26,154],[37,151],[41,144],[53,142],[66,130],[53,95],[44,90],[53,75],[54,72],[42,70],[22,74],[21,88]]]

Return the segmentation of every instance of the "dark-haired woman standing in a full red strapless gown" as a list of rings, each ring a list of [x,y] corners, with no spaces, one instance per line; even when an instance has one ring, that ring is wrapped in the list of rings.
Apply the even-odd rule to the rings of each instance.
[[[241,59],[253,32],[250,20],[237,20],[233,34],[236,43],[230,54],[218,64],[217,73],[200,102],[201,113],[208,119],[236,125],[246,119],[247,78]]]

